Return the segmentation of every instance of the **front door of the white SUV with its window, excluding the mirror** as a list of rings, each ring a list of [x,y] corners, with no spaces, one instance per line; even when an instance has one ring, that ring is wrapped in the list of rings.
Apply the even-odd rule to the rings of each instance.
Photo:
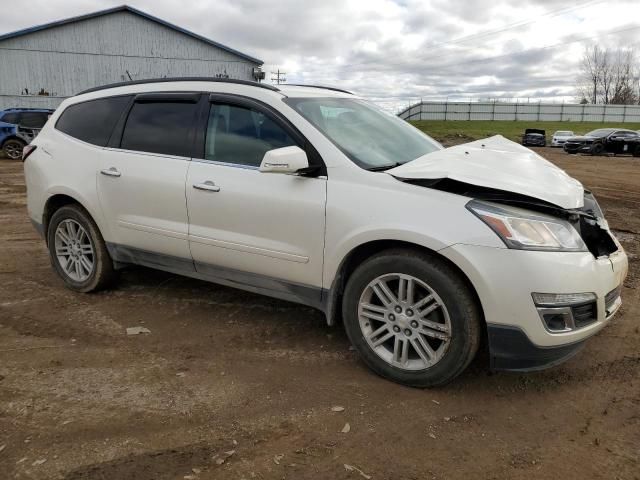
[[[326,176],[258,170],[268,150],[311,147],[275,112],[248,99],[212,96],[203,116],[203,148],[189,166],[186,187],[196,270],[284,298],[319,301]]]

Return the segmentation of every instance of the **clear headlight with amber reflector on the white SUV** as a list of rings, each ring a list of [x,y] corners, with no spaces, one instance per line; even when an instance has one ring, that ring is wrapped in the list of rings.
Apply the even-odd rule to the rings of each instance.
[[[479,200],[471,200],[467,208],[496,232],[509,248],[587,251],[587,246],[573,225],[560,218]]]

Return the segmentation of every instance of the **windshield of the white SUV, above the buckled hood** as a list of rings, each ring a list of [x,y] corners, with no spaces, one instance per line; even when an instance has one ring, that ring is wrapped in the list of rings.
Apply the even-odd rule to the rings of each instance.
[[[355,98],[286,98],[354,163],[391,168],[440,150],[438,142],[395,115]]]

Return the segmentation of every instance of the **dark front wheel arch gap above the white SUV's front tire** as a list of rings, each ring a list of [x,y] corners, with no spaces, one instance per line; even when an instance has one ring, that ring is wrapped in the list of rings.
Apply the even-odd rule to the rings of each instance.
[[[349,280],[351,274],[355,271],[358,265],[365,261],[367,258],[370,258],[373,255],[376,255],[385,250],[391,249],[403,249],[409,251],[415,251],[422,255],[427,255],[433,258],[437,258],[439,261],[442,261],[448,264],[451,268],[453,268],[459,275],[460,278],[465,282],[469,291],[472,292],[472,295],[475,298],[478,309],[482,315],[483,319],[483,328],[486,325],[484,319],[484,311],[482,308],[482,302],[480,301],[480,297],[473,283],[471,282],[468,275],[451,259],[441,255],[436,250],[425,247],[424,245],[420,245],[417,243],[404,241],[404,240],[392,240],[392,239],[379,239],[379,240],[371,240],[365,243],[362,243],[356,247],[354,247],[349,253],[342,259],[338,270],[336,271],[335,277],[331,283],[331,288],[326,292],[327,300],[325,302],[325,315],[327,318],[327,324],[329,326],[334,325],[338,319],[340,318],[342,311],[342,294],[344,292],[344,288]]]

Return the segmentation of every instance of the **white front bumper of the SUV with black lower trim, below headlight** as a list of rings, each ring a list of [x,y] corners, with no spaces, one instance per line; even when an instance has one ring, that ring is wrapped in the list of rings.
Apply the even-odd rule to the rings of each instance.
[[[500,364],[499,358],[531,357],[523,360],[528,366],[518,369],[534,368],[534,364],[540,363],[534,361],[536,358],[552,357],[553,364],[604,328],[615,314],[611,311],[607,314],[605,297],[622,284],[628,269],[622,247],[609,257],[597,259],[589,252],[537,252],[461,244],[440,253],[458,265],[475,287],[491,327],[490,340],[491,329],[494,330],[494,345],[490,342],[490,349],[495,352],[496,363]],[[597,318],[581,328],[552,333],[540,318],[532,292],[595,293]],[[616,310],[618,307],[619,304]],[[524,339],[516,339],[519,334],[511,331],[505,333],[505,328],[516,329]],[[505,345],[512,345],[511,350]],[[555,352],[549,350],[558,348]],[[539,349],[544,350],[540,355],[531,354]]]

